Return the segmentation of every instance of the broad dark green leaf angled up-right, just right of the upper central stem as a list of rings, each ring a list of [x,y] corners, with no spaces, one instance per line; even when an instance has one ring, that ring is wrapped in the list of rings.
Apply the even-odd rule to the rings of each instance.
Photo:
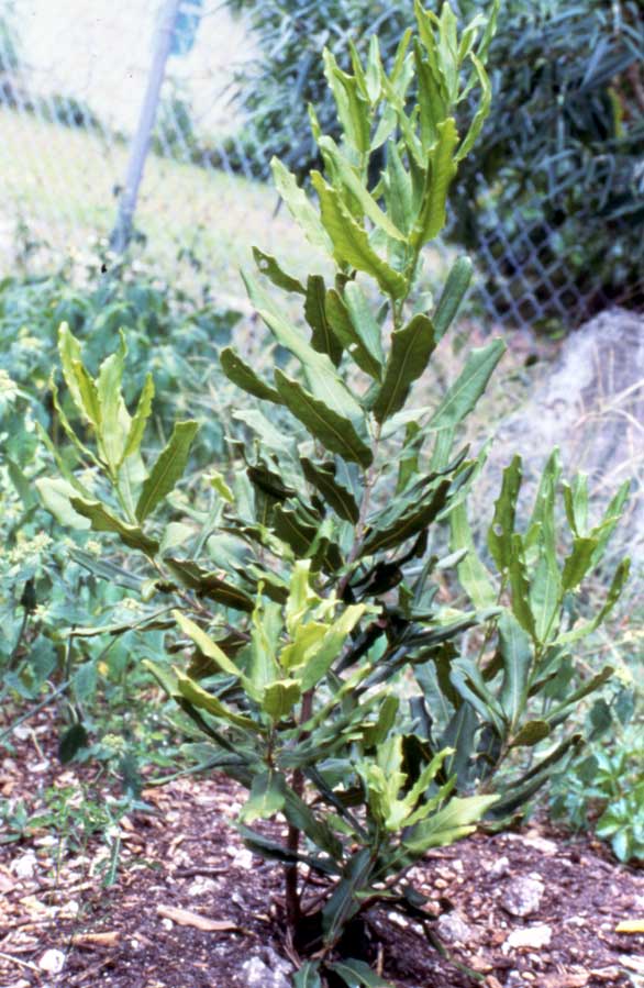
[[[385,380],[373,407],[378,422],[403,407],[411,385],[423,374],[434,346],[434,326],[426,315],[414,315],[404,329],[393,331]]]

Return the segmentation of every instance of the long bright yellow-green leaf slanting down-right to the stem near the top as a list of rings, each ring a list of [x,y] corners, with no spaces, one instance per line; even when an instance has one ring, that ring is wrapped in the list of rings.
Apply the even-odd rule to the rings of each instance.
[[[311,181],[320,197],[322,223],[333,243],[333,257],[337,264],[365,271],[378,281],[388,296],[401,298],[407,291],[403,276],[374,251],[366,230],[356,223],[340,195],[326,185],[319,171],[311,173]]]

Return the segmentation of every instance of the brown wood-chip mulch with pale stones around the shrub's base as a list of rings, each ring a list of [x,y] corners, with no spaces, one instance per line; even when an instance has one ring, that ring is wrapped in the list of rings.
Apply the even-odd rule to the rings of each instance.
[[[88,769],[63,769],[47,755],[44,715],[34,726],[14,754],[0,754],[0,799],[22,796],[31,808],[46,786],[88,778]],[[101,887],[99,837],[82,850],[45,832],[0,845],[2,988],[235,988],[247,984],[253,957],[267,965],[270,988],[268,968],[279,957],[290,963],[279,869],[253,858],[231,825],[240,791],[218,776],[178,780],[144,798],[156,812],[121,822],[110,888]],[[413,923],[375,911],[368,933],[377,963],[399,988],[644,985],[644,936],[615,932],[619,922],[644,918],[644,874],[587,837],[546,824],[478,834],[432,853],[412,878],[430,895],[452,957],[479,980],[442,957]],[[533,888],[540,879],[543,891],[521,918],[509,907],[524,879]],[[195,925],[203,920],[215,929]],[[518,931],[526,931],[524,945]]]

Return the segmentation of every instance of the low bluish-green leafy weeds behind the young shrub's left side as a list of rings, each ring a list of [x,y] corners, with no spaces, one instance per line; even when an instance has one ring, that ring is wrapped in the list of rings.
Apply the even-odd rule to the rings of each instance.
[[[75,281],[71,287],[69,273],[64,271],[0,282],[1,697],[3,704],[15,704],[15,720],[24,715],[25,706],[29,713],[41,702],[62,703],[67,725],[63,759],[75,740],[71,755],[82,747],[84,755],[109,764],[127,786],[135,775],[132,765],[154,761],[158,744],[152,726],[145,736],[136,736],[141,724],[149,725],[140,699],[149,676],[134,662],[137,650],[145,650],[136,631],[141,615],[127,595],[142,584],[135,574],[123,571],[120,559],[111,567],[101,565],[100,545],[85,532],[60,537],[35,488],[38,478],[55,468],[52,440],[59,436],[48,388],[57,326],[67,320],[97,364],[112,348],[118,328],[129,326],[136,362],[130,386],[141,385],[146,368],[153,367],[163,389],[155,409],[158,435],[148,439],[154,447],[159,440],[163,443],[178,410],[191,404],[190,387],[212,388],[224,418],[231,387],[216,368],[213,375],[214,343],[229,338],[237,317],[211,302],[207,293],[196,306],[132,269],[119,277],[77,269]],[[201,408],[196,411],[201,417]],[[222,423],[203,424],[197,454],[224,456]],[[88,618],[95,622],[91,634],[82,633]],[[114,639],[96,631],[101,622],[123,621],[133,625],[129,635]],[[79,632],[67,640],[74,628]],[[149,632],[145,643],[153,647]],[[133,709],[136,724],[130,720]],[[91,743],[92,737],[114,731],[125,740],[125,753],[110,754],[102,743]],[[10,733],[0,734],[9,743]]]

